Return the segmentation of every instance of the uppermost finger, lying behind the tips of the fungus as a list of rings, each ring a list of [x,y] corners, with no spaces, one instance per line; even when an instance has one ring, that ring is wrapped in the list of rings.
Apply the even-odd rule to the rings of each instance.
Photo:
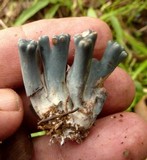
[[[74,55],[72,36],[88,29],[98,33],[94,55],[95,57],[100,57],[106,47],[107,41],[111,39],[111,32],[109,27],[99,19],[80,17],[40,20],[22,27],[13,27],[0,31],[0,87],[14,88],[22,85],[17,48],[18,39],[38,40],[38,37],[42,35],[52,37],[55,34],[69,33],[71,35],[69,61],[71,61]]]

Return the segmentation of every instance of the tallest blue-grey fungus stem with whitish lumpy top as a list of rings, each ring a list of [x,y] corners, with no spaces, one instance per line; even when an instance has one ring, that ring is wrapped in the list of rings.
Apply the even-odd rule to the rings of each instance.
[[[97,34],[87,31],[75,36],[75,58],[67,76],[68,89],[74,105],[82,103],[84,87],[90,72],[92,54]]]

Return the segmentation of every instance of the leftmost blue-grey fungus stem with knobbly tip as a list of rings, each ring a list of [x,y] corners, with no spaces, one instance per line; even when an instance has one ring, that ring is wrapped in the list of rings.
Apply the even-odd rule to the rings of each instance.
[[[19,40],[18,47],[26,93],[27,96],[31,96],[42,88],[37,63],[37,42],[22,39]]]

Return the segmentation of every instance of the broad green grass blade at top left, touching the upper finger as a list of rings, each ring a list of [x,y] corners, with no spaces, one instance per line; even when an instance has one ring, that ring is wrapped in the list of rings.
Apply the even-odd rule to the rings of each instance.
[[[26,20],[31,18],[35,13],[44,8],[50,3],[50,0],[36,1],[30,8],[24,10],[22,14],[16,19],[14,26],[22,25]]]

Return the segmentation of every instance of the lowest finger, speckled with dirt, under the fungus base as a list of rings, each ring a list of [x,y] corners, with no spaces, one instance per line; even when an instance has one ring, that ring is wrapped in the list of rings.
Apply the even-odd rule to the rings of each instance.
[[[34,139],[34,159],[145,159],[147,123],[134,113],[118,113],[97,121],[81,143],[48,145],[49,137]],[[117,153],[117,154],[116,154]]]

